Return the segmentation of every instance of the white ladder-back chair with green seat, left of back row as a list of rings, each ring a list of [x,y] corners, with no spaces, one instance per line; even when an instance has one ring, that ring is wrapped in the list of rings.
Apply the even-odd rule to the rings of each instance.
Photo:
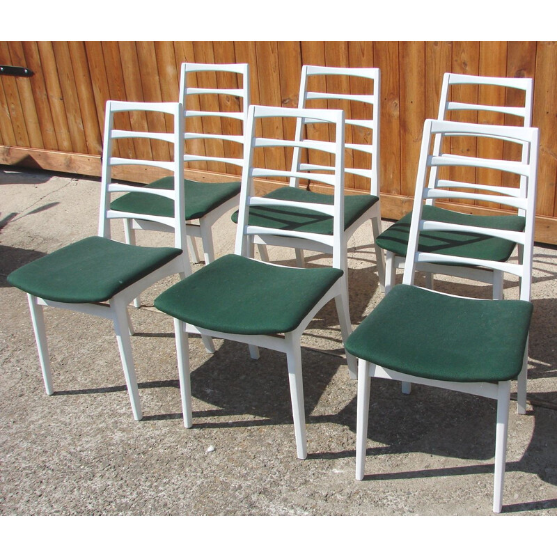
[[[242,86],[219,86],[219,81]],[[205,85],[203,85],[205,84]],[[180,72],[180,102],[184,106],[185,155],[187,163],[203,162],[219,165],[223,173],[230,165],[232,172],[242,168],[244,126],[249,107],[248,64],[199,64],[182,63]],[[231,109],[224,109],[231,107]],[[211,169],[211,166],[210,168]],[[205,263],[214,260],[212,226],[237,207],[240,198],[240,180],[231,182],[205,182],[184,180],[185,218],[187,239],[193,262],[199,262],[197,247],[192,237],[201,237]],[[157,180],[149,188],[171,189],[168,178]],[[122,196],[113,201],[112,210],[136,214],[158,215],[171,219],[173,206],[164,198],[143,195],[141,191]],[[134,230],[163,230],[173,232],[168,225],[153,223],[152,219],[125,219],[125,235],[128,244],[135,244]],[[136,301],[139,307],[139,300]]]

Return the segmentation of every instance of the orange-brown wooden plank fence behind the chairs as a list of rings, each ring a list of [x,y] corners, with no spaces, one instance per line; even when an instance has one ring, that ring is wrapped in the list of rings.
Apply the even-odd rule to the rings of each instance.
[[[100,175],[106,101],[178,100],[182,61],[247,62],[251,102],[274,106],[297,106],[304,64],[380,68],[382,210],[390,219],[410,210],[423,120],[437,116],[444,72],[533,77],[533,125],[541,134],[536,239],[557,244],[557,42],[0,41],[0,64],[35,72],[31,78],[0,76],[0,164]],[[359,86],[347,78],[327,78],[325,85],[331,91]],[[477,100],[478,94],[488,104],[517,102],[514,95],[501,99],[478,88],[462,99]],[[198,165],[191,175],[203,179],[215,170]],[[347,187],[367,185],[356,180]]]

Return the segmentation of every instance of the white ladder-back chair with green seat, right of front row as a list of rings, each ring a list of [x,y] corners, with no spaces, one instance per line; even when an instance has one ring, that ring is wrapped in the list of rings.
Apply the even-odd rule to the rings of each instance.
[[[429,155],[431,140],[439,134],[498,138],[524,142],[528,157],[520,162],[455,155]],[[525,214],[524,230],[483,228],[448,221],[432,221],[424,211],[432,199],[451,199],[456,184],[446,180],[435,187],[427,183],[427,172],[441,166],[492,168],[524,176],[528,192],[535,191],[539,134],[536,128],[505,127],[426,120],[416,179],[403,283],[396,285],[356,328],[345,343],[347,352],[359,358],[356,426],[356,478],[364,475],[370,377],[395,379],[497,400],[494,512],[501,512],[507,442],[510,382],[518,379],[519,405],[526,402],[528,328],[530,303],[535,195],[522,188],[508,188],[498,201]],[[427,186],[426,186],[427,185]],[[458,184],[462,187],[461,184]],[[493,188],[485,185],[476,199],[490,201]],[[421,251],[420,236],[431,231],[453,233],[455,249],[450,253]],[[517,243],[524,250],[520,261],[473,258],[459,250],[459,235],[489,235]],[[466,240],[464,240],[466,244]],[[465,246],[464,246],[465,247]],[[493,300],[441,294],[414,285],[415,270],[422,262],[444,265],[482,265],[515,274],[520,279],[519,299]]]

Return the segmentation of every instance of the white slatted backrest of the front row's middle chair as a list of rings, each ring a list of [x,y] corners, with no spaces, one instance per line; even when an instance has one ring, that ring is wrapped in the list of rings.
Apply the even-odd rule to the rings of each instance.
[[[275,139],[273,137],[258,136],[258,133],[261,132],[257,130],[264,128],[264,126],[257,125],[258,120],[262,120],[262,118],[281,118],[282,120],[304,118],[306,120],[328,123],[334,125],[334,140],[313,141],[311,139]],[[250,235],[269,234],[273,236],[303,238],[304,240],[314,240],[331,246],[333,266],[338,269],[344,269],[342,252],[344,235],[344,127],[344,112],[342,110],[290,109],[255,105],[249,107],[235,253],[244,256],[249,255]],[[315,168],[311,168],[313,172],[303,169],[298,170],[295,165],[290,170],[254,167],[253,160],[256,150],[266,148],[292,148],[292,150],[293,148],[299,148],[301,150],[326,152],[333,155],[334,166],[324,169],[324,171],[315,171]],[[334,188],[334,201],[331,205],[327,203],[302,203],[299,201],[286,201],[284,199],[256,196],[254,179],[278,177],[311,179],[313,182],[331,186]],[[249,226],[250,208],[256,206],[281,207],[285,211],[288,211],[289,207],[297,207],[315,212],[316,220],[320,218],[320,215],[333,217],[333,234],[317,234],[307,233],[302,230],[282,230],[281,228]]]

